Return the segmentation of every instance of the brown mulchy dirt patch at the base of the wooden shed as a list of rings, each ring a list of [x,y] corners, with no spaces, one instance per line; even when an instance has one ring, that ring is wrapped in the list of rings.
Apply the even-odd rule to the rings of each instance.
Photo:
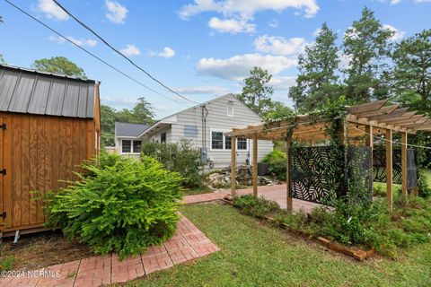
[[[60,231],[22,235],[17,245],[12,243],[13,238],[6,238],[0,246],[0,265],[6,263],[7,268],[12,261],[10,270],[34,270],[92,257],[90,248],[65,239]]]

